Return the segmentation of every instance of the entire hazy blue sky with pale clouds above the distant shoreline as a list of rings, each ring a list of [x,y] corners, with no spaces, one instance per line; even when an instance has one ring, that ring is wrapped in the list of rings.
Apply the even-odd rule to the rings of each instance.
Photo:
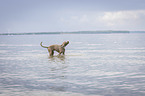
[[[0,33],[145,31],[145,0],[0,0]]]

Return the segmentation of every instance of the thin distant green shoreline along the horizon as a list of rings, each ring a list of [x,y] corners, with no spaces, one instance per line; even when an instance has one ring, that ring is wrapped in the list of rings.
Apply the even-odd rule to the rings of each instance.
[[[74,32],[22,32],[0,33],[0,35],[45,35],[45,34],[118,34],[118,33],[145,33],[145,31],[74,31]]]

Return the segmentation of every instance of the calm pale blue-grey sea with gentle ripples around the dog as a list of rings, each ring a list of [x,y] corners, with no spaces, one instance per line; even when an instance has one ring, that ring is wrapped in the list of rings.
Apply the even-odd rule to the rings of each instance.
[[[145,96],[144,33],[0,35],[0,96],[88,95]]]

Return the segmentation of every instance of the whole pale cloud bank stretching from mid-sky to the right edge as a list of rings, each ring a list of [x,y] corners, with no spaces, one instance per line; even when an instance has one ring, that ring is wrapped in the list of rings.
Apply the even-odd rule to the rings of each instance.
[[[67,30],[145,30],[145,10],[69,14],[60,22]]]

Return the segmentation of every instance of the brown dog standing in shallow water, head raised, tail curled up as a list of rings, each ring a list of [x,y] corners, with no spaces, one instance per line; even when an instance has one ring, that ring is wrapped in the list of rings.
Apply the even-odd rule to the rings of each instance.
[[[69,44],[69,41],[65,41],[65,42],[62,43],[62,45],[51,45],[51,46],[46,47],[46,46],[42,45],[42,42],[40,43],[40,45],[43,48],[47,48],[48,49],[49,56],[53,56],[54,51],[57,51],[59,53],[59,55],[61,55],[61,53],[64,55],[65,54],[65,47],[68,44]]]

